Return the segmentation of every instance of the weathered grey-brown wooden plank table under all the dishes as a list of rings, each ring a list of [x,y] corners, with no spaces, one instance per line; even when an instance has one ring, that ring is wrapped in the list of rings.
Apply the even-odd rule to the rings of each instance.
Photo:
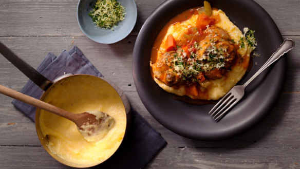
[[[300,44],[298,0],[255,0],[273,18],[284,39]],[[287,58],[287,77],[280,97],[258,125],[232,139],[196,141],[159,124],[142,104],[132,74],[137,34],[147,16],[163,0],[136,0],[138,20],[132,33],[111,44],[91,41],[77,23],[77,0],[1,0],[0,41],[36,68],[48,52],[58,55],[77,45],[168,142],[146,168],[300,168],[300,49]],[[257,23],[259,24],[259,23]],[[27,77],[0,57],[0,84],[21,90]],[[34,123],[0,95],[0,168],[69,168],[41,146]]]

